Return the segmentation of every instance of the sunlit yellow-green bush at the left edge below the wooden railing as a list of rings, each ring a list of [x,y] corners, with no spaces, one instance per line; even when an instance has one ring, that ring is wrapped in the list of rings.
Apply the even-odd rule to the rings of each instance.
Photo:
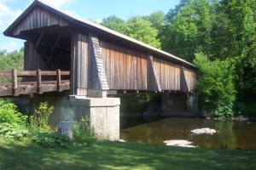
[[[0,123],[8,122],[24,126],[27,116],[23,116],[17,105],[9,103],[9,101],[0,100]]]

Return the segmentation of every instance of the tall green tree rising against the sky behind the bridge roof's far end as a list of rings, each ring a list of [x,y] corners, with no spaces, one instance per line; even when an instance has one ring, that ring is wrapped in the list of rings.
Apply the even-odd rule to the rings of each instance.
[[[166,14],[161,48],[192,62],[195,53],[209,53],[216,0],[183,0]]]

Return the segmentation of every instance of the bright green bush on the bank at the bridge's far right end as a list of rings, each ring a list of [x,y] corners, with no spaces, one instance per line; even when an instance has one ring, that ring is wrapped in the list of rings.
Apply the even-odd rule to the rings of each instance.
[[[213,111],[219,117],[233,116],[234,65],[228,59],[210,61],[204,54],[195,54],[194,63],[199,67],[197,87],[202,109]]]

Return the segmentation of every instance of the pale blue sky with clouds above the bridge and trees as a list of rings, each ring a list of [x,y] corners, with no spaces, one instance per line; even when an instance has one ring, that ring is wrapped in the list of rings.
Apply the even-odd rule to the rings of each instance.
[[[78,14],[87,20],[102,21],[110,15],[123,20],[131,16],[152,14],[162,10],[165,14],[175,8],[179,0],[40,0],[55,8]],[[0,50],[20,50],[24,41],[4,37],[3,31],[32,3],[32,0],[0,0]]]

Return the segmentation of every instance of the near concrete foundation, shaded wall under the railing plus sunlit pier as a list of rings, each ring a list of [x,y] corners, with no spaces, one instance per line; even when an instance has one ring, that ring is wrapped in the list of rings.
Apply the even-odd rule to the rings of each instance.
[[[15,98],[14,103],[23,113],[33,114],[40,102],[55,107],[49,115],[49,124],[57,127],[59,122],[74,122],[82,116],[90,117],[90,125],[97,137],[119,140],[119,98],[86,98],[77,95],[35,94],[33,98]]]

